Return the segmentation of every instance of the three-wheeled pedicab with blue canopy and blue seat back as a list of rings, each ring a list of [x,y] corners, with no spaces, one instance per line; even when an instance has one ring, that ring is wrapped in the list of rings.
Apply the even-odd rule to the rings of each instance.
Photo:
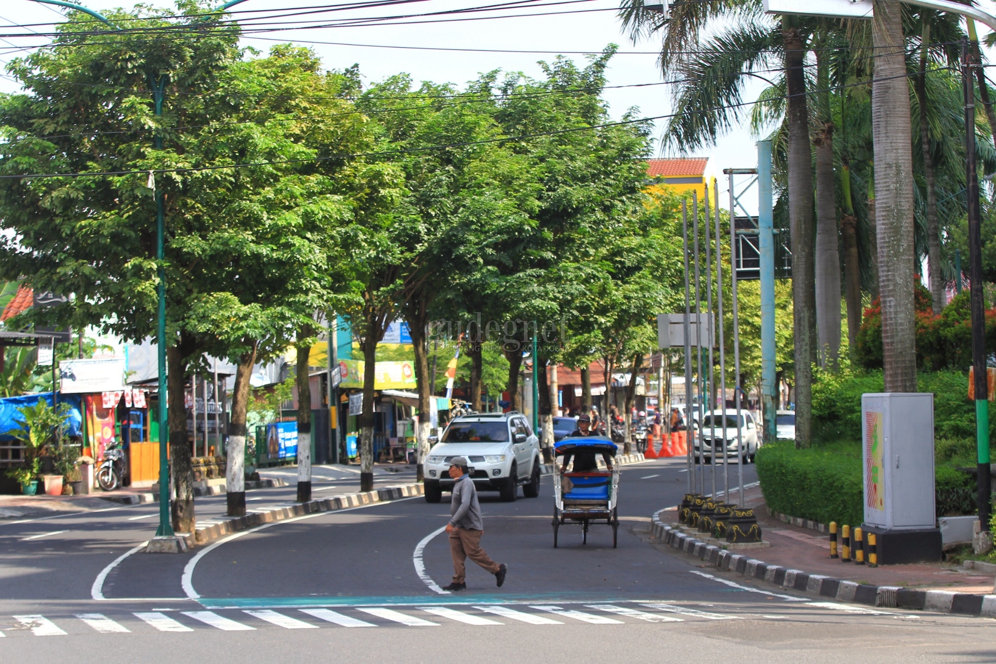
[[[580,525],[582,544],[588,544],[588,527],[603,520],[613,528],[615,549],[620,527],[616,508],[620,469],[613,463],[619,450],[616,443],[606,436],[579,436],[560,440],[554,449],[554,549],[561,526]],[[599,456],[605,469],[598,467]]]

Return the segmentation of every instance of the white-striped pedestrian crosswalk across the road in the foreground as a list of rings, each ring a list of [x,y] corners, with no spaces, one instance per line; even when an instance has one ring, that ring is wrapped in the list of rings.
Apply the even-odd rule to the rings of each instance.
[[[625,605],[628,604],[628,605]],[[801,604],[794,608],[805,608]],[[701,606],[701,608],[698,608]],[[816,604],[814,607],[818,606]],[[703,610],[709,608],[712,610]],[[822,607],[821,607],[822,608]],[[623,625],[626,623],[680,623],[710,620],[784,618],[749,612],[746,607],[724,609],[700,602],[633,601],[561,604],[452,604],[337,606],[331,608],[253,608],[215,610],[155,609],[150,611],[74,613],[68,615],[22,614],[0,617],[0,637],[67,636],[74,634],[133,634],[195,632],[199,630],[255,631],[259,629],[319,629],[338,627],[439,627],[473,625],[500,627],[530,625]],[[744,611],[748,612],[744,612]]]

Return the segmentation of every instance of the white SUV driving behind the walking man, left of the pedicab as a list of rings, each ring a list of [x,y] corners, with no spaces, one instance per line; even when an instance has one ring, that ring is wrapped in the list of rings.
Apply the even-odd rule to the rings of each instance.
[[[519,412],[464,415],[450,422],[425,458],[426,503],[438,503],[442,492],[452,491],[453,457],[467,458],[478,491],[498,491],[508,502],[520,485],[527,498],[540,495],[540,441]]]

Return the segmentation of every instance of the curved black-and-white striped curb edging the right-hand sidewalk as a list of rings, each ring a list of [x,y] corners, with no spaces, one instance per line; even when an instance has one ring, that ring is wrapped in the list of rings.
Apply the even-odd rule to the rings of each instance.
[[[895,585],[858,583],[823,574],[810,574],[800,569],[787,569],[779,565],[767,564],[749,555],[732,553],[714,545],[706,545],[676,528],[667,526],[660,521],[659,515],[659,512],[655,513],[650,519],[650,538],[652,540],[690,553],[719,569],[736,572],[741,576],[764,580],[818,597],[829,597],[869,606],[996,617],[996,594],[977,595],[949,590],[912,590]]]

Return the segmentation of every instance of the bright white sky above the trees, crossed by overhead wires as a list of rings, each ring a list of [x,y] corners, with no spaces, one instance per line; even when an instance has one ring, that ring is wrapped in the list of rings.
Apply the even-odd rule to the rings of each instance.
[[[347,0],[355,3],[358,0]],[[498,0],[495,0],[498,1]],[[543,76],[537,61],[553,60],[557,54],[569,52],[600,52],[608,44],[618,44],[620,54],[613,58],[608,70],[608,86],[605,99],[610,105],[613,117],[619,118],[630,108],[637,108],[639,116],[657,116],[672,112],[669,85],[660,85],[662,77],[657,64],[659,43],[642,41],[633,44],[622,33],[622,24],[616,17],[618,0],[536,0],[537,2],[560,4],[543,10],[503,10],[502,14],[528,14],[550,12],[545,16],[496,18],[490,20],[450,21],[446,23],[416,23],[409,25],[336,26],[321,29],[293,28],[293,21],[318,19],[323,23],[342,22],[342,19],[363,16],[384,16],[398,13],[425,13],[442,10],[467,8],[492,4],[473,0],[420,0],[407,5],[380,7],[375,9],[336,12],[335,14],[305,15],[279,19],[282,28],[279,32],[258,34],[243,39],[243,44],[266,52],[273,44],[292,41],[310,46],[322,58],[329,69],[344,69],[359,64],[361,74],[369,83],[380,81],[400,72],[408,73],[415,81],[452,83],[462,86],[476,79],[480,74],[501,69],[540,78]],[[102,11],[119,6],[130,6],[129,2],[116,0],[85,0],[88,8]],[[146,4],[172,8],[172,2],[146,0]],[[233,8],[236,17],[243,25],[251,23],[251,18],[259,16],[259,10],[314,7],[326,3],[308,0],[247,0]],[[993,0],[979,0],[979,6],[996,13]],[[584,10],[584,11],[578,11]],[[553,14],[553,12],[559,12]],[[574,12],[574,13],[565,13]],[[494,16],[476,14],[476,16]],[[3,26],[14,24],[52,24],[61,20],[62,11],[58,7],[43,5],[31,0],[7,0],[0,5],[0,33],[15,32]],[[453,18],[450,16],[449,18]],[[33,25],[23,30],[46,32],[51,25]],[[987,31],[980,26],[981,34]],[[16,57],[11,47],[39,44],[42,38],[3,39],[0,38],[0,66]],[[336,42],[351,44],[341,46],[316,44],[314,42]],[[549,51],[538,53],[481,53],[468,51],[433,51],[395,48],[373,48],[372,46],[434,47],[448,49],[495,49],[509,51]],[[993,61],[989,54],[990,62]],[[584,55],[571,54],[568,57],[583,63]],[[613,86],[623,86],[612,88]],[[766,86],[763,82],[751,80],[745,87],[745,101],[753,101]],[[18,86],[9,78],[0,78],[0,92],[16,92]],[[665,120],[655,122],[656,135]],[[722,136],[716,145],[692,150],[688,156],[709,157],[707,174],[720,179],[722,207],[726,207],[726,178],[723,168],[753,168],[757,165],[757,137],[744,123],[732,128]],[[676,156],[678,150],[660,152],[655,144],[653,156]],[[737,187],[740,190],[740,187]],[[757,198],[753,191],[744,196],[745,206],[752,213],[756,210]]]

